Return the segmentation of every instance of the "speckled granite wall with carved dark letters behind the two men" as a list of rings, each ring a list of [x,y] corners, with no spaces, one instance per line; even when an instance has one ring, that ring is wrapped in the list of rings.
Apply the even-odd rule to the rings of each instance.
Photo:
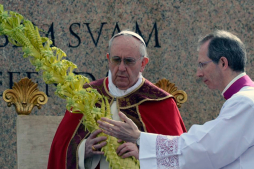
[[[252,1],[240,0],[0,0],[6,10],[16,11],[41,28],[43,36],[77,64],[76,72],[91,80],[108,70],[108,40],[120,30],[141,34],[150,62],[144,77],[152,82],[167,78],[188,94],[180,108],[184,123],[203,124],[217,117],[224,99],[210,91],[196,76],[197,40],[215,29],[234,32],[247,46],[246,72],[252,75],[254,20]],[[65,103],[54,95],[19,47],[0,37],[0,95],[13,82],[28,76],[49,96],[48,104],[32,115],[64,115]],[[0,168],[16,168],[16,118],[14,107],[0,99]]]

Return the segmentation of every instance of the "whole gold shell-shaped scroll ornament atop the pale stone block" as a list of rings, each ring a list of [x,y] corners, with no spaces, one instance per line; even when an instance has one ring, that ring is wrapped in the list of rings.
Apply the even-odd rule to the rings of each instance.
[[[27,77],[23,78],[18,83],[14,83],[12,89],[4,91],[3,99],[8,107],[15,105],[18,115],[29,115],[34,106],[41,109],[41,106],[48,101],[47,95],[39,91],[37,86],[37,83]]]

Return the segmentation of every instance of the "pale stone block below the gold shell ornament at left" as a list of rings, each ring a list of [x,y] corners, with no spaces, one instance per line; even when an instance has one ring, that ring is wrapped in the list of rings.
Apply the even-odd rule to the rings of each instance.
[[[17,117],[18,169],[46,169],[50,145],[63,116]]]

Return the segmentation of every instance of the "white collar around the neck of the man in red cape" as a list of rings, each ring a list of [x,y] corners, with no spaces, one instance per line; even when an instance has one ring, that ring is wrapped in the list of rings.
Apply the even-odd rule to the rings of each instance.
[[[114,97],[122,97],[124,95],[127,95],[133,90],[135,90],[142,83],[142,79],[143,79],[142,73],[139,72],[138,81],[136,82],[136,84],[134,84],[132,87],[128,88],[127,90],[121,90],[113,84],[112,74],[111,74],[111,71],[109,70],[108,72],[109,93],[112,94]]]

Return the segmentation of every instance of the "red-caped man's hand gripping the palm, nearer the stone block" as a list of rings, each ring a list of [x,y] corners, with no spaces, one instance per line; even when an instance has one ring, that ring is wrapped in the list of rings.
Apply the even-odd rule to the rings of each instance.
[[[107,142],[105,141],[107,137],[97,137],[98,134],[102,132],[101,129],[95,130],[90,136],[86,139],[86,147],[85,147],[85,159],[92,157],[96,154],[104,154],[101,152],[101,148],[104,147]]]

